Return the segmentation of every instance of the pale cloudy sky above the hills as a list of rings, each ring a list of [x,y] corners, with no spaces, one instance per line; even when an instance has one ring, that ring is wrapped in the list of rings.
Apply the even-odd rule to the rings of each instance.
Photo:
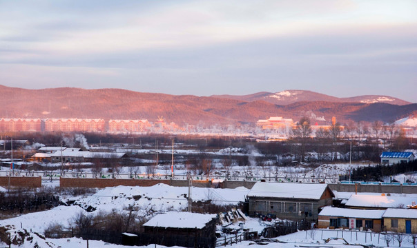
[[[0,84],[417,103],[417,1],[0,1]]]

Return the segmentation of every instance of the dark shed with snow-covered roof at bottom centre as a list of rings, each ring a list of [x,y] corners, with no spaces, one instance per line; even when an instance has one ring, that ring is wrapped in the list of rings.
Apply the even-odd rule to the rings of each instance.
[[[215,214],[167,212],[158,214],[143,225],[148,244],[215,248]],[[142,244],[145,245],[145,244]]]

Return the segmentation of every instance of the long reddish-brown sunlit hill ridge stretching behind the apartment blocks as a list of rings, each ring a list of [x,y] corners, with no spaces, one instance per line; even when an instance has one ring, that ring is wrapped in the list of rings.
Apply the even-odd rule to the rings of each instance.
[[[276,105],[265,99],[244,101],[213,96],[175,96],[170,94],[142,93],[120,89],[84,90],[61,87],[27,90],[0,85],[0,117],[3,118],[110,118],[156,121],[164,116],[166,122],[179,125],[225,125],[255,123],[269,116],[284,116],[298,121],[309,116],[312,122],[329,123],[331,116],[344,123],[354,121],[394,121],[405,118],[417,110],[417,104],[394,105],[388,103],[357,103],[331,101],[296,101],[307,96],[326,96],[314,92],[295,91],[275,94],[287,99],[287,105]],[[267,96],[267,92],[251,95],[251,99]],[[275,99],[278,99],[275,97]],[[370,98],[369,98],[370,99]],[[293,100],[292,100],[293,101]]]

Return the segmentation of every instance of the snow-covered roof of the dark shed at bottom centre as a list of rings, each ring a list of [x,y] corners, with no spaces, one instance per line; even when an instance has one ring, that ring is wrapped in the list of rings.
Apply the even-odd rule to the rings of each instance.
[[[197,228],[202,229],[213,218],[215,214],[196,214],[190,212],[170,211],[166,214],[158,214],[151,218],[145,227],[171,227],[171,228]]]

